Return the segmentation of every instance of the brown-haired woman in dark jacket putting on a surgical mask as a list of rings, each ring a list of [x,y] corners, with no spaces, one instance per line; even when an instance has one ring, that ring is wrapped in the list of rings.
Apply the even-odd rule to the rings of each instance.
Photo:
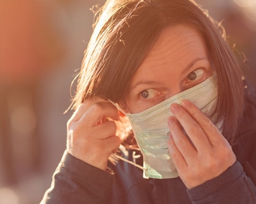
[[[193,1],[107,1],[42,203],[255,203],[255,89],[218,29]]]

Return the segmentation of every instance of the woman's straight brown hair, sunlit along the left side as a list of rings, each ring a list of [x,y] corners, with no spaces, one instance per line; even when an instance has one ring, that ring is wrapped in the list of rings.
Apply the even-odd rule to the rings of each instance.
[[[225,33],[206,11],[189,0],[109,0],[99,12],[79,73],[74,108],[92,96],[122,101],[132,75],[163,29],[187,24],[205,38],[218,76],[216,118],[223,120],[223,135],[234,141],[244,107],[241,69]]]

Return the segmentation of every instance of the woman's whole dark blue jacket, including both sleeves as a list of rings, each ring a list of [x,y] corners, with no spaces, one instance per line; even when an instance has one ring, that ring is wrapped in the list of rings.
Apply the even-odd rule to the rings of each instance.
[[[109,163],[115,171],[111,175],[65,152],[41,204],[256,203],[255,89],[246,90],[244,118],[232,149],[237,157],[236,163],[219,177],[193,189],[186,189],[179,177],[143,179],[142,170],[123,161],[116,166]],[[124,157],[142,165],[142,157],[135,159],[133,152],[125,150]],[[135,154],[140,155],[140,151]]]

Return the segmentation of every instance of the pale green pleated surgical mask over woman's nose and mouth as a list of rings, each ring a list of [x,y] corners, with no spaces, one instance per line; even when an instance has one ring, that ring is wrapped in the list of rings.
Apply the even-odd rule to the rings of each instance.
[[[168,118],[173,115],[170,111],[172,103],[180,104],[188,99],[205,115],[211,115],[217,100],[217,79],[215,75],[207,78],[201,84],[180,92],[165,101],[148,108],[140,113],[125,113],[131,122],[135,139],[143,154],[143,177],[145,179],[172,179],[179,177],[177,169],[168,152]],[[215,124],[216,125],[216,124]],[[220,128],[220,124],[216,125]]]

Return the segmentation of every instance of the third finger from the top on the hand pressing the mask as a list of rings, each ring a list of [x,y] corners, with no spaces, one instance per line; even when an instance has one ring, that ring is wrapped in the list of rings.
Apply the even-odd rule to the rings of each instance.
[[[188,136],[186,136],[182,131],[182,128],[175,117],[171,116],[168,119],[168,126],[173,138],[173,142],[175,143],[175,147],[179,150],[180,154],[182,154],[186,163],[188,164],[193,158],[196,157],[196,149],[189,141]]]

